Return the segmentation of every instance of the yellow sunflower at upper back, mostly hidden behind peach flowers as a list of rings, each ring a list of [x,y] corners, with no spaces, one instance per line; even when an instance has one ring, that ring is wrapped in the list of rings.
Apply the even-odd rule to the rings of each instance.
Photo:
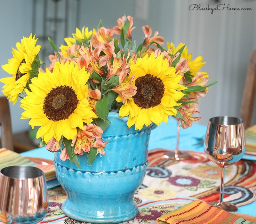
[[[73,37],[66,37],[64,38],[64,41],[67,45],[61,45],[60,50],[64,57],[68,57],[67,54],[68,48],[71,47],[73,44],[76,43],[76,40],[78,42],[86,42],[92,38],[92,35],[96,34],[96,30],[93,28],[93,30],[88,29],[88,27],[83,27],[82,31],[78,28],[76,28],[76,33],[72,34]]]

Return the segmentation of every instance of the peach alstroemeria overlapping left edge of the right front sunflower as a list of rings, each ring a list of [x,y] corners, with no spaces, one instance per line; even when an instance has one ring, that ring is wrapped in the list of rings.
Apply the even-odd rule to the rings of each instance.
[[[111,89],[122,97],[123,103],[126,103],[130,97],[136,95],[137,87],[133,83],[134,77],[134,75],[130,74],[124,79],[124,82],[122,80],[121,83]]]

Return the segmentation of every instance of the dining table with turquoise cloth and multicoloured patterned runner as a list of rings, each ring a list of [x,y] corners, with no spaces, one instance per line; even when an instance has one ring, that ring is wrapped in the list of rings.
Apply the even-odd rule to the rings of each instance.
[[[176,148],[177,120],[171,118],[167,124],[162,123],[152,130],[148,143],[149,165],[146,177],[134,197],[139,207],[139,214],[134,220],[137,219],[138,222],[133,220],[130,223],[140,223],[141,220],[144,220],[144,223],[156,223],[152,220],[156,220],[157,216],[182,204],[197,199],[205,202],[218,200],[220,167],[204,154],[206,128],[207,126],[196,123],[187,129],[180,128],[179,149],[191,155],[190,159],[180,161],[170,160],[165,156],[165,152]],[[20,155],[42,160],[54,159],[54,153],[45,147],[35,148]],[[237,213],[256,216],[255,169],[255,156],[245,154],[241,161],[226,170],[227,191],[224,189],[224,201],[236,204]],[[51,194],[58,193],[60,188],[57,187],[58,190]],[[62,191],[62,194],[65,192]],[[56,223],[65,217],[57,214],[52,218],[52,222],[50,218],[41,223]]]

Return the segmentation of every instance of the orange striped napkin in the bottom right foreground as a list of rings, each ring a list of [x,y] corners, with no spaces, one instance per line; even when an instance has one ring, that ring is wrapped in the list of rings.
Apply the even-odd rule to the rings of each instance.
[[[193,224],[193,223],[225,223],[225,224],[256,224],[244,218],[213,207],[200,200],[193,201],[186,204],[168,214],[162,215],[157,219],[157,223],[170,223],[170,224]]]

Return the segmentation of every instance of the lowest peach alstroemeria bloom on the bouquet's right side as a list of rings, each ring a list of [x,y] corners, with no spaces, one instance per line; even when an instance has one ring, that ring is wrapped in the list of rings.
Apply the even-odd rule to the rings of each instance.
[[[182,107],[180,107],[178,110],[180,112],[180,114],[182,115],[184,121],[187,123],[185,124],[183,120],[180,119],[181,122],[181,127],[186,129],[188,127],[192,127],[192,121],[199,121],[201,119],[201,117],[193,117],[192,114],[199,114],[200,111],[197,108],[197,103],[195,104],[185,104],[182,105]],[[190,106],[190,107],[189,107]]]

